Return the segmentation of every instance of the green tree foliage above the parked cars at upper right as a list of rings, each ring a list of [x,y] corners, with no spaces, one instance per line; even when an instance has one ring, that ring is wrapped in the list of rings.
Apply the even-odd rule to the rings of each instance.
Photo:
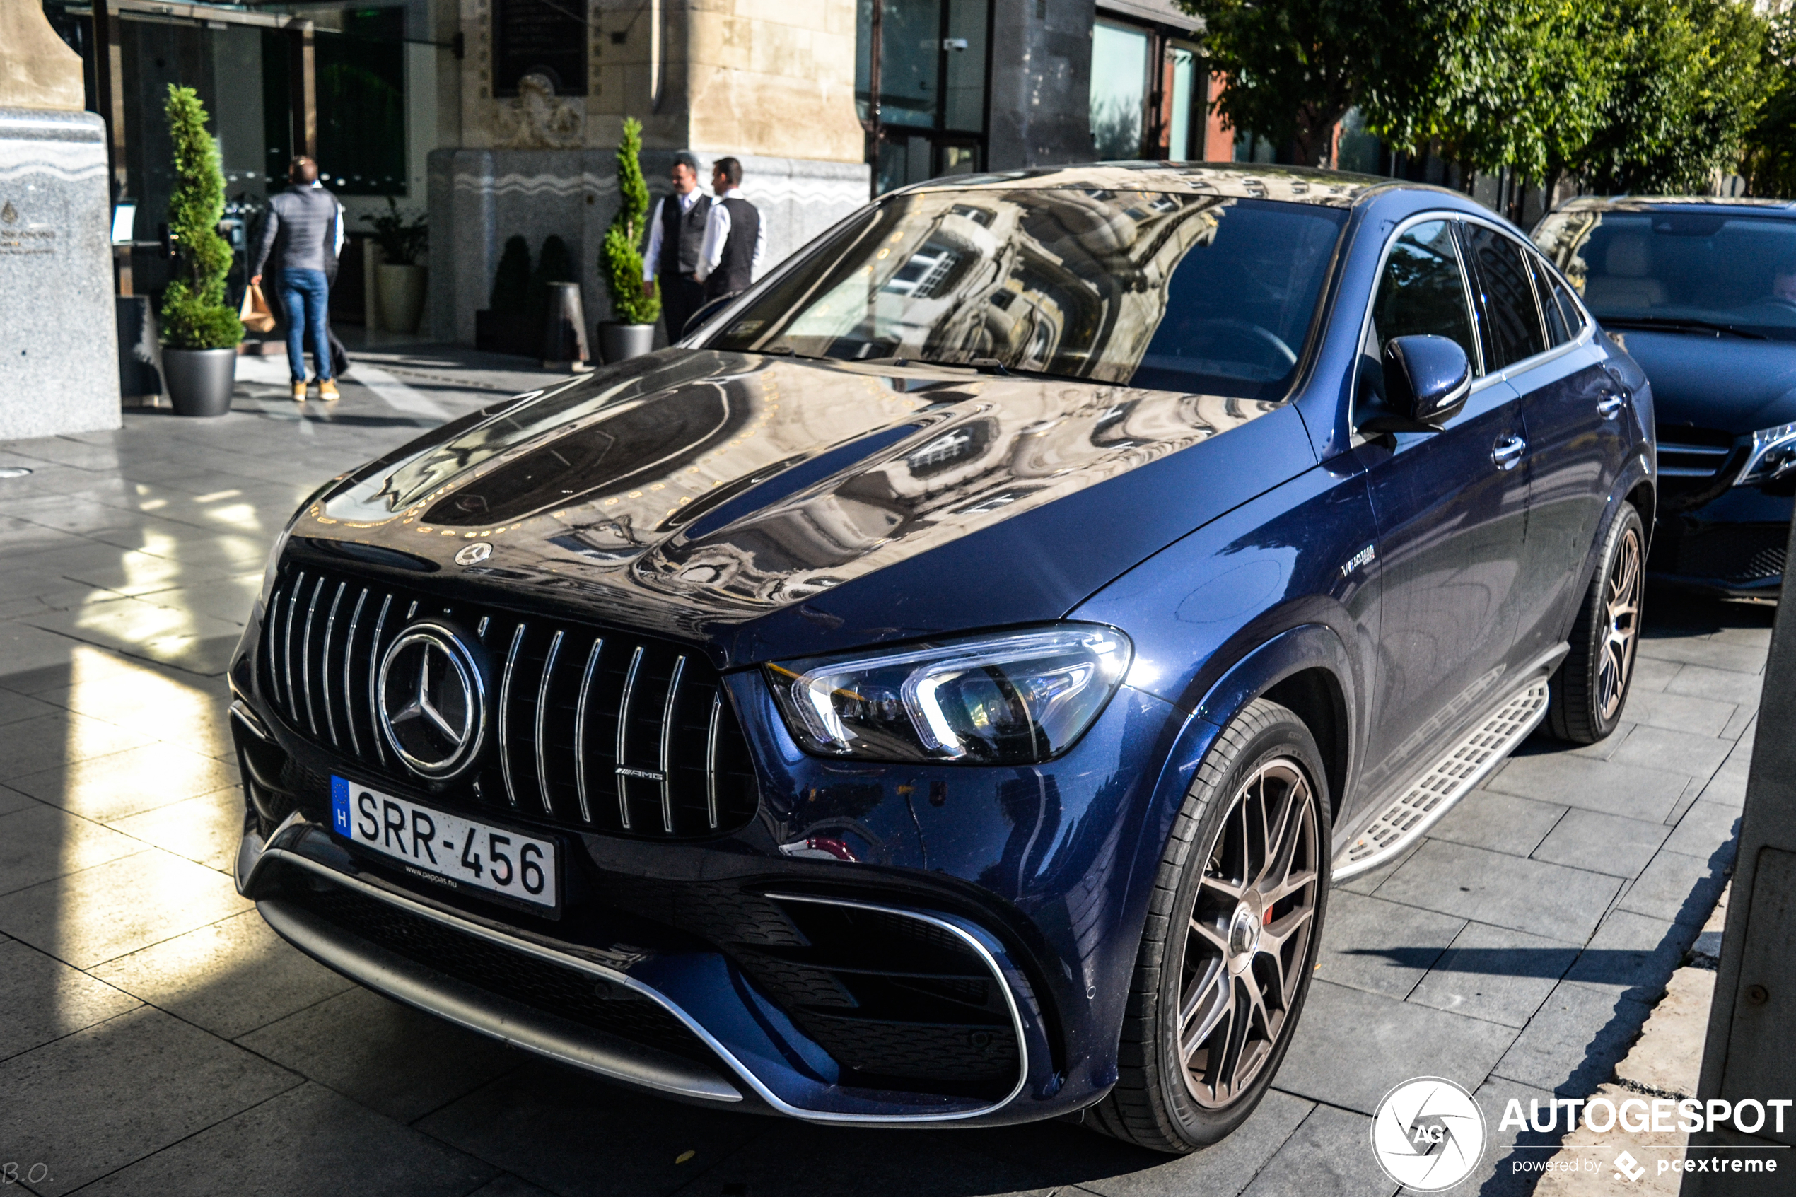
[[[1739,162],[1767,92],[1751,0],[1182,4],[1230,75],[1228,124],[1304,163],[1325,162],[1331,126],[1360,108],[1392,149],[1485,174],[1699,190]]]

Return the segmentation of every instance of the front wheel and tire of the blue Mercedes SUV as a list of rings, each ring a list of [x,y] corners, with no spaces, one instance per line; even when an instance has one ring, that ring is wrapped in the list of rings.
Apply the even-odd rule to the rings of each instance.
[[[1329,824],[1309,729],[1275,702],[1248,703],[1216,738],[1173,822],[1130,985],[1117,1084],[1085,1125],[1182,1156],[1254,1113],[1309,992],[1327,908]],[[1281,851],[1268,854],[1266,842]],[[1277,940],[1270,928],[1282,928]],[[1191,1035],[1180,1018],[1187,1007]]]

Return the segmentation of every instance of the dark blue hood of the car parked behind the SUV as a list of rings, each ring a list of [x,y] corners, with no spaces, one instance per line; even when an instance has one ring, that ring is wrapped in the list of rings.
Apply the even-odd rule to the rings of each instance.
[[[1661,429],[1683,424],[1740,434],[1796,422],[1796,341],[1636,328],[1611,336],[1652,380]]]

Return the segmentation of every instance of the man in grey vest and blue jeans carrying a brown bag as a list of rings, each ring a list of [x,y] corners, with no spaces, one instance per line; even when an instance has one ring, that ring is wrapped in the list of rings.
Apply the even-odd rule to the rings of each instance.
[[[318,398],[338,397],[330,364],[330,280],[343,251],[343,205],[318,181],[318,163],[300,154],[287,170],[293,183],[269,196],[262,235],[250,255],[250,282],[262,285],[269,255],[280,269],[280,307],[287,318],[287,366],[293,398],[305,402],[305,334],[313,334]]]

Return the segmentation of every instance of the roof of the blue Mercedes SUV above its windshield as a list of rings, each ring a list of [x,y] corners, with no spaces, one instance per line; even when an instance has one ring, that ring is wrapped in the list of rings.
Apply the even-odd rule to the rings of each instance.
[[[1374,196],[1403,190],[1435,192],[1453,197],[1458,205],[1467,203],[1466,196],[1444,187],[1410,183],[1408,179],[1387,179],[1378,174],[1203,162],[1096,162],[1070,167],[955,174],[929,179],[927,183],[914,183],[893,194],[1052,188],[1180,192],[1191,196],[1221,196],[1225,199],[1282,199],[1286,203],[1307,203],[1329,208],[1351,208]]]

